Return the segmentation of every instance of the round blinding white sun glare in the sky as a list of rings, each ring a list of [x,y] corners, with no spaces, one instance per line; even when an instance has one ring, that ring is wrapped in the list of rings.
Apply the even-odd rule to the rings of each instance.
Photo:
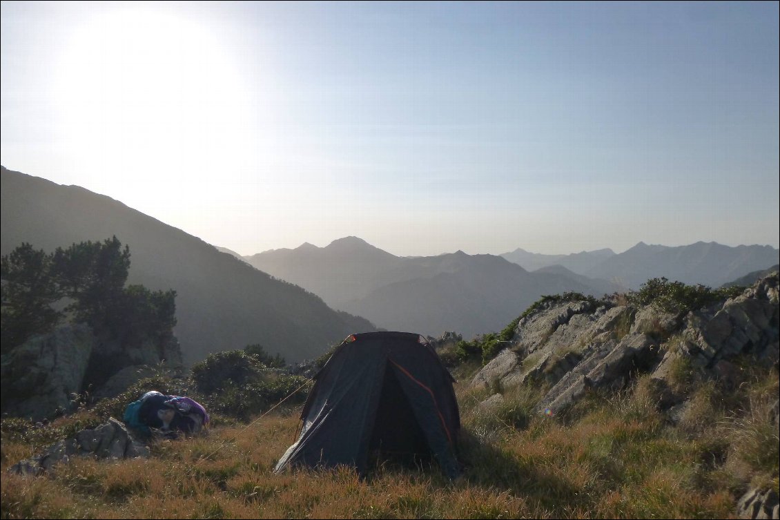
[[[147,182],[186,189],[245,159],[250,115],[236,66],[209,30],[175,12],[126,6],[90,16],[62,49],[54,80],[61,139],[97,185],[115,182],[110,171],[139,184],[123,191],[148,193]]]

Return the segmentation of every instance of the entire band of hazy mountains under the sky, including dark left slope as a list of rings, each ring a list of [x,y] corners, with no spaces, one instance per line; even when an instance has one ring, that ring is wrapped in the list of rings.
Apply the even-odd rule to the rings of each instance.
[[[119,201],[5,168],[0,212],[3,255],[23,241],[48,251],[112,235],[128,244],[130,283],[177,291],[176,335],[190,363],[250,343],[293,362],[376,326],[472,337],[502,329],[543,294],[601,296],[660,276],[719,287],[778,264],[768,246],[399,257],[357,237],[241,257]]]

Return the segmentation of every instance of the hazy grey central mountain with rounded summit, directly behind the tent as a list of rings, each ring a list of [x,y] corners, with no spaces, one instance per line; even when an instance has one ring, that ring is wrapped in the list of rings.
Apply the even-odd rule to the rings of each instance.
[[[500,330],[542,294],[611,292],[601,290],[608,283],[590,284],[570,271],[527,272],[499,256],[463,251],[397,257],[356,237],[325,248],[303,244],[245,259],[380,327],[433,336],[446,330],[466,337]]]

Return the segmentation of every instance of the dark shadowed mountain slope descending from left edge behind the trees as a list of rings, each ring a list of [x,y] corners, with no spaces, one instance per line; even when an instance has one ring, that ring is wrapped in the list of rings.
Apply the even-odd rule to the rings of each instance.
[[[52,251],[115,235],[130,248],[128,283],[176,290],[175,332],[187,363],[252,343],[295,362],[322,354],[350,333],[375,330],[367,320],[336,312],[320,297],[112,198],[5,167],[0,180],[2,255],[22,242]]]

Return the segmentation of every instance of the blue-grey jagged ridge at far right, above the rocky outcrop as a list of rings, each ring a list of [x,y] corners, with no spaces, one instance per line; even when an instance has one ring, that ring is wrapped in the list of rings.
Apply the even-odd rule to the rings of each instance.
[[[668,247],[640,242],[580,274],[614,280],[631,289],[638,289],[648,279],[661,276],[720,287],[748,272],[767,269],[778,262],[780,251],[768,245],[732,248],[717,242],[697,242]]]

